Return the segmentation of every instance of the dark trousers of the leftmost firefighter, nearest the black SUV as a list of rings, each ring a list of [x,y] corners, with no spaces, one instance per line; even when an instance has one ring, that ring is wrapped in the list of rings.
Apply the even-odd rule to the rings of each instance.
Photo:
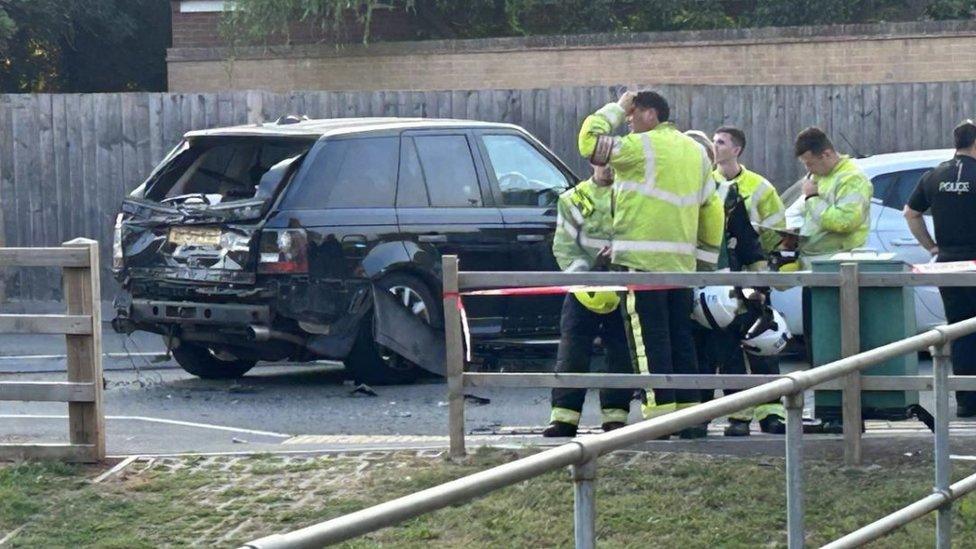
[[[573,294],[567,294],[563,301],[560,331],[557,373],[589,372],[593,341],[597,337],[601,338],[606,349],[607,370],[610,373],[634,373],[623,319],[617,311],[594,313],[580,304]],[[631,395],[632,389],[601,389],[600,408],[629,412]],[[583,409],[585,398],[586,389],[556,388],[552,390],[552,407],[579,412]],[[626,414],[623,417],[626,421]]]

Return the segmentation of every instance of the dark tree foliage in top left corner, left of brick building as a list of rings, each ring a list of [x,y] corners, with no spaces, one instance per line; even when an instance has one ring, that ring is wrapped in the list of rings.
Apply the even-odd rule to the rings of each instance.
[[[161,90],[166,0],[0,0],[0,91]]]

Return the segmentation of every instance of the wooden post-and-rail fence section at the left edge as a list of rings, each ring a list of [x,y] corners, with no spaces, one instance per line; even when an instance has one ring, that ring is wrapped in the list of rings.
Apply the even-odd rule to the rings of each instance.
[[[102,315],[98,243],[0,248],[0,268],[59,267],[65,314],[0,314],[0,334],[64,335],[67,381],[0,381],[0,401],[66,402],[68,443],[0,444],[0,460],[96,462],[105,457],[102,407]]]

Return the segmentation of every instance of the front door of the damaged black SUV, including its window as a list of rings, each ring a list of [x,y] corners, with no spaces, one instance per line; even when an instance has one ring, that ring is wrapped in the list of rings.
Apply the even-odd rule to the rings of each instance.
[[[514,130],[479,132],[478,144],[508,235],[506,270],[558,271],[552,254],[556,202],[576,183],[575,176],[541,145]],[[559,295],[511,298],[505,332],[558,333],[562,301]]]

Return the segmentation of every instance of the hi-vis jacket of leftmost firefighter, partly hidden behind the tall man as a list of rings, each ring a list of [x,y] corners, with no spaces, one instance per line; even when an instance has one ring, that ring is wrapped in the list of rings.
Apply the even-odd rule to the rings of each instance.
[[[552,253],[563,271],[590,271],[610,245],[610,187],[587,179],[559,195]]]

